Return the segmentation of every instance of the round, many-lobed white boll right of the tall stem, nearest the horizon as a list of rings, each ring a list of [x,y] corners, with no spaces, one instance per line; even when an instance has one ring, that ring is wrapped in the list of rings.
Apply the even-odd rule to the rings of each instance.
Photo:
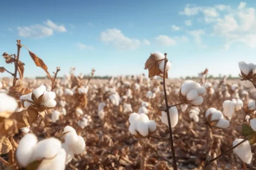
[[[200,106],[204,102],[205,87],[192,80],[186,80],[183,82],[179,94],[185,103]]]

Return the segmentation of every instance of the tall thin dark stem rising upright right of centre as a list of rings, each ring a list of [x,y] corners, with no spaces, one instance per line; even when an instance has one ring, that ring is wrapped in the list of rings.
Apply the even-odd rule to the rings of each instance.
[[[166,63],[168,59],[166,58],[166,53],[165,53],[165,66],[163,68],[163,92],[165,93],[165,104],[168,106],[168,101],[167,101],[167,94],[166,94],[166,87],[165,87],[165,75],[166,75]],[[168,118],[168,126],[169,126],[169,138],[170,138],[170,145],[171,145],[171,154],[172,154],[172,166],[174,170],[177,170],[177,163],[176,163],[176,156],[175,156],[175,150],[174,150],[174,144],[173,144],[173,139],[172,139],[172,129],[171,129],[171,120],[170,120],[170,114],[169,114],[169,109],[166,109],[167,112],[167,118]]]

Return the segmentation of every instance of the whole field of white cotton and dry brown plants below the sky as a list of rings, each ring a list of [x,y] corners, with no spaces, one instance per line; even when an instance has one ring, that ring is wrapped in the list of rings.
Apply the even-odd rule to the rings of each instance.
[[[255,169],[256,65],[240,80],[169,79],[168,54],[145,54],[148,73],[97,80],[75,67],[54,75],[17,41],[0,72],[0,169]],[[45,79],[24,78],[26,47]],[[23,50],[26,50],[23,49]],[[247,63],[246,63],[247,62]],[[62,78],[58,78],[62,77]]]

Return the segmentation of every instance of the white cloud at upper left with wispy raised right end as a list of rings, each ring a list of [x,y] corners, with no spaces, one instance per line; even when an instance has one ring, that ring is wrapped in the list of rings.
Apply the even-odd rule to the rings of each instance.
[[[25,38],[44,38],[51,36],[56,32],[66,32],[66,28],[63,25],[54,24],[51,20],[43,22],[42,24],[30,25],[27,27],[17,27],[18,35]]]

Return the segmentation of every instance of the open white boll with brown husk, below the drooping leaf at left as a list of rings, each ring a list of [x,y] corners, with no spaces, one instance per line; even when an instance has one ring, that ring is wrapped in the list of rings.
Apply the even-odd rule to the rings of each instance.
[[[54,92],[46,91],[44,85],[37,87],[33,92],[27,95],[22,95],[20,97],[21,101],[24,101],[24,107],[29,107],[31,104],[37,106],[44,106],[46,108],[51,108],[56,106],[56,101],[54,100],[56,94]]]

